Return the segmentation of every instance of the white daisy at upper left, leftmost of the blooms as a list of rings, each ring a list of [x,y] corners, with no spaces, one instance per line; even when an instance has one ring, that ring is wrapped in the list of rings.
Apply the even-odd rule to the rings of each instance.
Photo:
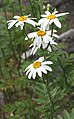
[[[35,19],[35,18],[29,18],[29,16],[30,16],[30,14],[26,15],[26,16],[14,16],[13,18],[15,20],[7,21],[8,22],[8,29],[10,29],[13,25],[15,25],[16,27],[20,26],[21,30],[23,30],[24,23],[29,23],[35,27],[35,25],[37,23],[35,21],[31,20],[31,19]]]

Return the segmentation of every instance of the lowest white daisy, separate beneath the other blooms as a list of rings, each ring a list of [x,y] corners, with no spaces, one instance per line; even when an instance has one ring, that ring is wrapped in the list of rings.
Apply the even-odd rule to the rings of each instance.
[[[42,77],[42,73],[47,74],[47,71],[52,71],[51,67],[47,66],[49,64],[53,64],[53,62],[44,61],[44,57],[40,57],[25,69],[26,75],[28,75],[29,79],[31,79],[31,77],[35,79],[36,73],[39,75],[39,77]]]

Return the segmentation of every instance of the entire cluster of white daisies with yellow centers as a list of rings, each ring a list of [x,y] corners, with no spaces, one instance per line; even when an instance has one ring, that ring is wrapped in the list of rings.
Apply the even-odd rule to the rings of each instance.
[[[38,21],[38,23],[32,20],[36,18],[29,18],[31,14],[25,16],[14,16],[14,20],[7,21],[8,29],[15,25],[16,27],[20,26],[21,30],[23,30],[25,23],[29,23],[32,26],[37,27],[37,31],[27,34],[25,38],[25,40],[33,40],[33,43],[30,45],[32,46],[31,54],[34,55],[37,49],[40,49],[41,47],[51,52],[51,46],[57,45],[57,43],[54,41],[54,38],[58,38],[59,36],[56,34],[57,31],[55,29],[53,29],[52,32],[50,25],[54,23],[58,28],[61,28],[61,23],[58,17],[64,16],[66,14],[69,13],[66,12],[58,14],[58,11],[54,11],[53,13],[45,11],[45,14],[41,15],[42,18]],[[44,61],[44,57],[40,57],[25,69],[26,75],[28,75],[29,79],[35,79],[36,73],[39,77],[42,77],[42,73],[47,74],[47,71],[52,71],[52,68],[48,66],[49,64],[53,64],[53,62]]]

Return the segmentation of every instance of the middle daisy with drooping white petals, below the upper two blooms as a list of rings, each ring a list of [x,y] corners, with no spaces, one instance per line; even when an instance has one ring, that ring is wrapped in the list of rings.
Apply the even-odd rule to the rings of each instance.
[[[57,45],[56,42],[54,42],[53,38],[59,38],[59,36],[57,34],[55,34],[55,32],[57,32],[56,30],[53,30],[53,34],[51,37],[51,30],[50,31],[43,31],[42,29],[33,32],[33,33],[29,33],[25,38],[25,40],[28,40],[28,38],[34,38],[34,42],[31,44],[31,46],[33,46],[31,54],[33,53],[33,55],[36,53],[37,49],[40,48],[42,46],[43,49],[47,48],[48,44],[51,45]],[[49,48],[48,48],[49,49]]]

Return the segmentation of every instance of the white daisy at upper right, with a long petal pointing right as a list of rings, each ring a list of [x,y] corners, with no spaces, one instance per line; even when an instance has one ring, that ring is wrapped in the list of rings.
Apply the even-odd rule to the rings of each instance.
[[[41,25],[43,29],[46,29],[47,27],[49,27],[50,24],[54,23],[57,27],[61,28],[61,23],[58,17],[69,14],[69,12],[60,13],[60,14],[57,13],[58,11],[54,11],[53,13],[50,13],[49,11],[45,11],[45,14],[41,15],[41,17],[43,18],[41,18],[38,21],[38,25]]]

